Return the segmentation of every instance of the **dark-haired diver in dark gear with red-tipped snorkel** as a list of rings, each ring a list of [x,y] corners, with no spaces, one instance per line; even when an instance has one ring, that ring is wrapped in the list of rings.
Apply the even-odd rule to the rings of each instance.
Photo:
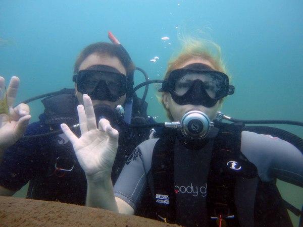
[[[38,122],[27,127],[30,115],[24,103],[10,107],[10,112],[2,115],[0,195],[13,195],[30,182],[27,198],[85,204],[85,173],[72,144],[60,133],[61,123],[79,123],[77,105],[83,103],[83,94],[90,95],[95,116],[108,119],[119,130],[113,182],[123,168],[125,156],[148,139],[149,129],[134,130],[125,125],[154,120],[146,115],[147,103],[133,93],[135,65],[111,33],[110,38],[113,43],[97,42],[81,51],[74,66],[75,89],[63,89],[42,99],[45,110]],[[5,87],[4,78],[0,82]],[[9,106],[13,105],[18,85],[19,79],[13,77],[7,92]],[[75,127],[74,133],[80,135],[79,128]]]

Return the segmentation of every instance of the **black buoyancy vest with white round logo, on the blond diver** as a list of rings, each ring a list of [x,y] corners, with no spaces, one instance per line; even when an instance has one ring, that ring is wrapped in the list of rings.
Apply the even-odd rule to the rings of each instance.
[[[216,127],[218,135],[207,142],[212,144],[208,148],[211,158],[206,164],[209,171],[204,176],[207,199],[191,207],[193,213],[194,209],[199,210],[197,217],[180,218],[177,210],[182,201],[178,201],[175,169],[180,166],[174,164],[177,137],[171,130],[167,130],[154,147],[147,176],[154,204],[148,211],[149,216],[185,226],[219,226],[220,222],[222,226],[292,226],[275,182],[261,182],[256,166],[240,152],[245,126],[220,123]],[[186,148],[186,144],[183,145]],[[201,215],[203,213],[206,215]]]

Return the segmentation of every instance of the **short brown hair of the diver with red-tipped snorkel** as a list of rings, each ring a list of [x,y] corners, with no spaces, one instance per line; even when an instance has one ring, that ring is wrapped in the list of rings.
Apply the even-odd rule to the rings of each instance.
[[[108,42],[97,42],[86,46],[79,54],[75,66],[74,74],[79,72],[81,63],[91,54],[96,53],[98,55],[107,54],[109,56],[115,56],[119,59],[121,64],[124,66],[126,75],[134,73],[135,65],[133,62],[127,61],[127,53],[121,49],[120,45],[108,43]]]

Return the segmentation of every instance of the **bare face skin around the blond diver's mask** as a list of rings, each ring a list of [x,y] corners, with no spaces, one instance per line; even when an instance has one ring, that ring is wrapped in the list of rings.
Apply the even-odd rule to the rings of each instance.
[[[179,69],[183,68],[187,65],[194,64],[194,63],[205,64],[214,69],[214,66],[208,60],[198,59],[198,58],[191,59],[189,61],[184,62],[179,67]],[[165,104],[165,107],[170,111],[174,121],[181,121],[183,115],[191,110],[198,110],[198,111],[204,112],[210,118],[210,120],[213,121],[214,118],[216,117],[217,111],[219,110],[219,108],[221,107],[221,104],[222,104],[221,100],[219,100],[212,107],[205,107],[203,105],[190,105],[190,104],[179,105],[172,99],[172,96],[169,92],[165,92],[163,94],[163,102]]]

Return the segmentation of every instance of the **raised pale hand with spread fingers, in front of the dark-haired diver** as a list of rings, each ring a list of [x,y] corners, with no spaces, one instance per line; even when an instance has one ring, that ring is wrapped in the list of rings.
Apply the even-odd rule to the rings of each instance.
[[[97,129],[90,97],[84,94],[83,102],[85,109],[78,105],[81,137],[75,136],[66,124],[61,124],[61,128],[73,144],[87,180],[107,180],[116,157],[119,133],[106,119],[99,121]]]

